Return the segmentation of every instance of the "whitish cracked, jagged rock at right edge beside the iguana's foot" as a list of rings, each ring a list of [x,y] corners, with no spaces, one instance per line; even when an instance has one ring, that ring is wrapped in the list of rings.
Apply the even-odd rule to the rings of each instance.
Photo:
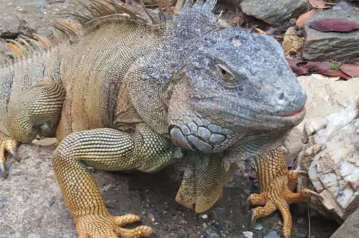
[[[359,202],[359,108],[357,105],[327,117],[326,128],[309,136],[303,156],[312,163],[307,170],[324,207],[337,221],[345,220]],[[338,216],[338,217],[337,217]]]

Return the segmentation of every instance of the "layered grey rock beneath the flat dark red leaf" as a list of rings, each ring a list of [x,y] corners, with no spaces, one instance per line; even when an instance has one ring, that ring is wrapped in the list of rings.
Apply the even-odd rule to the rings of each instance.
[[[347,19],[359,24],[359,14],[352,7],[317,11],[311,22],[322,19]],[[304,25],[303,58],[309,61],[344,60],[359,55],[359,31],[321,32]]]

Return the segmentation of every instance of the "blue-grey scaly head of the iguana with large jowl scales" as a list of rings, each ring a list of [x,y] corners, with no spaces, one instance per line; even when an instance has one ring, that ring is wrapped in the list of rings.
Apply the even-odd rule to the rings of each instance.
[[[169,133],[175,144],[204,152],[249,134],[285,135],[303,120],[306,98],[275,39],[222,28],[185,57],[169,103]]]

